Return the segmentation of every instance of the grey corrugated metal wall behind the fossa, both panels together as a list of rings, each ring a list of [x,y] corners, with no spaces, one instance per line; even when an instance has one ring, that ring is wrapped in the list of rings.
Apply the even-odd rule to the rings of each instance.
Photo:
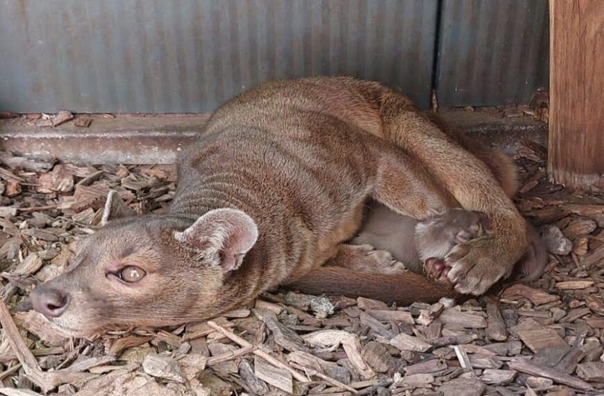
[[[498,105],[548,78],[547,0],[0,4],[0,110],[208,111],[316,74],[382,81],[424,108],[433,87],[442,106]]]

